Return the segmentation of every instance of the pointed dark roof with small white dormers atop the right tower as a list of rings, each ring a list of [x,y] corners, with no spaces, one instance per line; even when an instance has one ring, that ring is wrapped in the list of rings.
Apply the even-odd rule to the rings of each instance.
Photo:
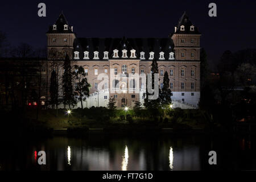
[[[180,30],[180,26],[184,25],[185,30],[181,31]],[[190,26],[195,26],[195,24],[193,24],[191,22],[191,20],[189,20],[188,15],[184,12],[183,15],[180,17],[179,19],[179,23],[177,24],[177,29],[176,32],[174,34],[200,34],[200,32],[198,31],[198,28],[195,26],[195,30],[191,31],[190,30]]]

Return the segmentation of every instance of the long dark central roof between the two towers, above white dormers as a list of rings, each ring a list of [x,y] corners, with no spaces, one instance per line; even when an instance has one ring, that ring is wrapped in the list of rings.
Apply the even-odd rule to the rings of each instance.
[[[79,51],[80,59],[84,57],[84,51],[89,52],[89,59],[93,59],[94,51],[99,52],[99,58],[103,59],[104,51],[109,52],[109,59],[113,59],[114,49],[118,49],[118,59],[122,59],[122,50],[127,50],[127,56],[130,57],[130,50],[135,49],[137,59],[140,52],[145,52],[145,59],[149,53],[154,52],[154,57],[159,59],[159,52],[164,52],[166,60],[169,53],[174,52],[174,43],[171,38],[76,38],[73,44],[74,51]]]

